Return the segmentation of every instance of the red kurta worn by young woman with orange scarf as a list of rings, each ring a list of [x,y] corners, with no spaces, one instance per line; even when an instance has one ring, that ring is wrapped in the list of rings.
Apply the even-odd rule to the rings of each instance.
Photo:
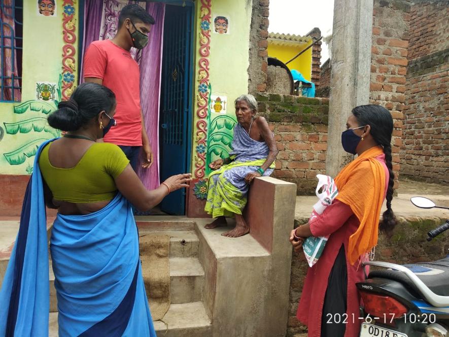
[[[386,194],[389,172],[385,165],[385,155],[378,156],[376,159],[384,165]],[[363,188],[363,186],[360,186],[360,188]],[[296,314],[301,323],[307,325],[308,337],[320,337],[321,335],[324,296],[326,295],[329,274],[341,245],[344,245],[348,271],[348,323],[344,337],[357,337],[359,335],[362,321],[358,319],[360,316],[360,296],[356,283],[365,279],[360,263],[367,259],[367,254],[361,256],[354,265],[349,263],[347,255],[349,237],[357,230],[359,225],[360,221],[351,208],[338,200],[335,200],[332,205],[327,207],[321,217],[310,223],[310,231],[312,231],[314,237],[324,237],[326,235],[330,235],[330,237],[318,262],[307,271]]]

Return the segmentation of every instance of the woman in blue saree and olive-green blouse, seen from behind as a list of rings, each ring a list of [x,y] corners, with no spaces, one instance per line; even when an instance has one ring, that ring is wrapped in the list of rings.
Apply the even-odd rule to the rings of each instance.
[[[115,107],[110,89],[84,83],[49,116],[67,133],[42,144],[34,161],[0,292],[0,336],[48,336],[45,204],[58,210],[50,251],[59,335],[156,336],[130,205],[151,209],[190,174],[148,191],[118,146],[97,142],[116,125]]]

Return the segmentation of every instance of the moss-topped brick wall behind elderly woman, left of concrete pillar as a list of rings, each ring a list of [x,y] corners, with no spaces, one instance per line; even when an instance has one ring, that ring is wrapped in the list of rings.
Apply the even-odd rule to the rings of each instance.
[[[279,94],[257,100],[279,149],[273,177],[297,184],[298,194],[314,193],[326,167],[329,100]]]

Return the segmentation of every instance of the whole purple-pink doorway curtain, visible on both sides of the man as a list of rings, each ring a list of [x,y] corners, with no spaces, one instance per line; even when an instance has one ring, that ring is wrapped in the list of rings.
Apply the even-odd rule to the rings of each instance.
[[[130,3],[137,2],[86,0],[83,55],[92,41],[111,39],[115,36],[120,10]],[[145,6],[143,3],[138,4]],[[148,46],[141,52],[131,48],[131,54],[139,63],[141,70],[141,106],[154,158],[154,163],[149,169],[143,170],[139,167],[137,174],[145,187],[154,189],[159,186],[159,102],[165,4],[147,3],[146,10],[156,23],[151,28]]]

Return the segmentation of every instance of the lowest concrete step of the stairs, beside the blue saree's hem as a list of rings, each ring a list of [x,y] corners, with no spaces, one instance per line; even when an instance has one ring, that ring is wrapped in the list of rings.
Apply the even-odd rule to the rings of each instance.
[[[58,337],[58,313],[50,313],[49,337]],[[210,337],[211,321],[202,302],[172,304],[162,321],[154,328],[158,336],[164,337]]]

